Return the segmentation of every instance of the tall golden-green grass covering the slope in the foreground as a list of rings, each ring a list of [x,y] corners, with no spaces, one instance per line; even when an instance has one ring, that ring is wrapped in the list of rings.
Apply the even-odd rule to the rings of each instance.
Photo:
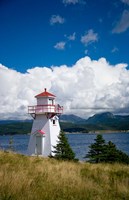
[[[129,166],[0,152],[0,200],[129,199]]]

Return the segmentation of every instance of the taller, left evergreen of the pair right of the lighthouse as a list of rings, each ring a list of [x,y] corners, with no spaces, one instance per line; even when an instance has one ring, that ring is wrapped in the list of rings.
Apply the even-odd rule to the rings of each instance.
[[[93,163],[103,162],[106,149],[105,145],[105,140],[102,135],[97,135],[95,143],[89,146],[90,150],[85,158],[89,158],[89,161]]]

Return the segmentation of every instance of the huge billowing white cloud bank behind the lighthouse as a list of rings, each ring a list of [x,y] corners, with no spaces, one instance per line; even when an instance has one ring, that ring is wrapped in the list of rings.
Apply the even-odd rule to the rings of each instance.
[[[26,119],[27,106],[47,88],[65,114],[89,117],[98,112],[129,112],[129,71],[105,58],[84,57],[73,66],[35,67],[26,73],[0,65],[0,119]],[[126,89],[125,89],[126,88]]]

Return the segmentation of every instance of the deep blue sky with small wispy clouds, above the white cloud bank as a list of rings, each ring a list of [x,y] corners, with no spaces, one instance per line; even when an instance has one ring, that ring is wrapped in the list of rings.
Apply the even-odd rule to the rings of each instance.
[[[25,72],[105,57],[129,64],[128,0],[1,0],[0,63]]]

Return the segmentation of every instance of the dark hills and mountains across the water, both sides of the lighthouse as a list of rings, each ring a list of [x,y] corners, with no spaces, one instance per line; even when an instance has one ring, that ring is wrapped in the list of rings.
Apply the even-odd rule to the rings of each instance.
[[[113,115],[110,112],[96,114],[87,120],[76,115],[62,115],[60,117],[61,129],[65,132],[84,132],[112,130],[128,131],[129,116]],[[30,133],[32,120],[0,121],[0,135],[27,134]]]

